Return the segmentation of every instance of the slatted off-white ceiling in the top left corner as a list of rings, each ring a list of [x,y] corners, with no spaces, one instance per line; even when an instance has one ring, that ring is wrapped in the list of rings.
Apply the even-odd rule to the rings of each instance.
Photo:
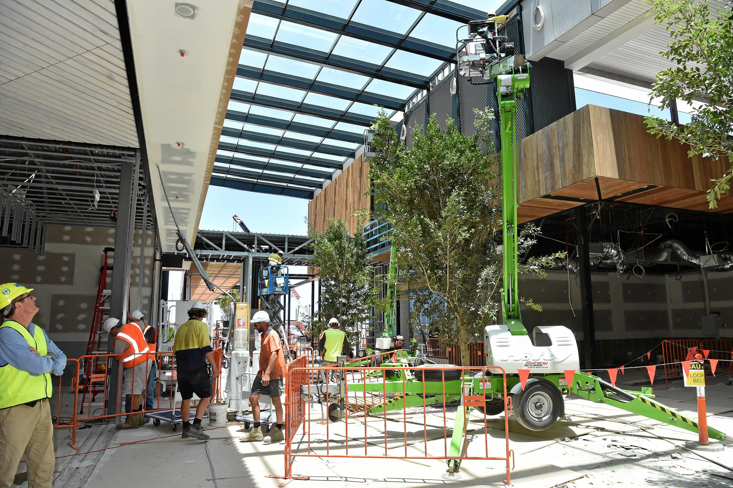
[[[0,134],[138,147],[114,0],[0,0]]]

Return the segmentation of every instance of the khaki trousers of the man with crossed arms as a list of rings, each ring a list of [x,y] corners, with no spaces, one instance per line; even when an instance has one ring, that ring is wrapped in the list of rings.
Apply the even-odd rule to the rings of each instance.
[[[35,407],[16,405],[0,410],[0,488],[10,488],[23,456],[28,487],[51,488],[56,459],[48,399]]]

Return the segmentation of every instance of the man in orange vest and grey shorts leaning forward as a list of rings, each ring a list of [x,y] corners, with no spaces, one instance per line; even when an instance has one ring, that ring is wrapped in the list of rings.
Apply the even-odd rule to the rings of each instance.
[[[132,413],[126,415],[125,422],[117,429],[137,429],[145,423],[142,413],[143,391],[150,371],[150,355],[142,328],[137,322],[120,325],[119,319],[111,317],[104,322],[104,330],[114,337],[114,354],[122,361],[122,393],[130,395]]]

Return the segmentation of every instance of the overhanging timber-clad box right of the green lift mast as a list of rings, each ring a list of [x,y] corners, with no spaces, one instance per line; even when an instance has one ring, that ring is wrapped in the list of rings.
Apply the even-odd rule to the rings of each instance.
[[[687,152],[686,145],[649,134],[640,115],[584,106],[520,142],[520,221],[599,197],[708,210],[705,191],[729,162],[688,158]],[[723,196],[718,204],[716,211],[729,212],[733,197]]]

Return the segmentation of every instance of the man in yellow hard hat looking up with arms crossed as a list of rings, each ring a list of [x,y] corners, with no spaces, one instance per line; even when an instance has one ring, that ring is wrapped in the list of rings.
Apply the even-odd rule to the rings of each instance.
[[[38,311],[32,288],[0,285],[0,487],[14,484],[25,456],[29,488],[51,488],[54,424],[51,373],[60,376],[66,356],[31,320]]]

